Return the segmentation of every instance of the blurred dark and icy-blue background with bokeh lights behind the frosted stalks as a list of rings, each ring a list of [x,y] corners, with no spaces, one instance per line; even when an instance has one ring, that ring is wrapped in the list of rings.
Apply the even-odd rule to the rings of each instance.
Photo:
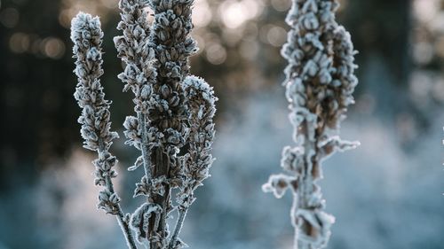
[[[361,147],[331,157],[321,181],[337,217],[330,249],[444,248],[444,1],[342,0],[360,84],[343,123]],[[195,0],[192,72],[218,97],[218,159],[197,191],[182,237],[195,249],[290,249],[291,197],[260,187],[291,144],[280,48],[290,0]],[[76,12],[100,16],[102,77],[113,128],[132,113],[112,41],[117,0],[0,0],[0,249],[125,248],[115,219],[97,211],[93,154],[82,149],[69,41]],[[141,172],[117,141],[123,208]]]

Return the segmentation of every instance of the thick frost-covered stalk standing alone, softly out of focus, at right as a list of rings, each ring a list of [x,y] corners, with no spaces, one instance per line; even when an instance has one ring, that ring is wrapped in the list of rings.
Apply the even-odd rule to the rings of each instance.
[[[290,216],[295,228],[295,249],[318,249],[328,244],[335,218],[324,212],[325,200],[317,181],[321,162],[334,152],[359,145],[339,138],[340,121],[354,103],[358,83],[353,74],[353,43],[338,25],[335,0],[293,0],[287,16],[291,27],[282,56],[285,69],[289,121],[293,125],[293,147],[282,152],[281,167],[287,174],[271,175],[263,190],[281,198],[293,193]]]

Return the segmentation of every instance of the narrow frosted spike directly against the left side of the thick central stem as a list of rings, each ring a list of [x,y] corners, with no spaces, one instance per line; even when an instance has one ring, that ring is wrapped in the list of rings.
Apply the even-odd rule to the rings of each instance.
[[[145,177],[149,180],[151,179],[151,169],[147,138],[147,102],[151,90],[149,84],[155,79],[155,70],[152,66],[154,51],[148,46],[149,24],[146,7],[147,1],[121,1],[119,3],[122,21],[117,28],[123,30],[124,35],[115,37],[115,45],[119,57],[123,58],[123,62],[126,64],[125,72],[119,75],[119,78],[126,82],[123,90],[131,89],[135,95],[134,110],[137,113],[137,126],[139,126],[136,132],[139,133],[140,141],[131,140],[128,144],[136,146],[141,151],[141,163],[145,170]],[[127,119],[127,121],[132,121],[132,124],[125,121],[125,128],[128,130],[126,135],[131,132],[131,128],[128,126],[133,125],[135,119],[134,117]],[[133,137],[134,134],[131,136]],[[135,170],[139,165],[140,161],[131,167],[131,170]]]

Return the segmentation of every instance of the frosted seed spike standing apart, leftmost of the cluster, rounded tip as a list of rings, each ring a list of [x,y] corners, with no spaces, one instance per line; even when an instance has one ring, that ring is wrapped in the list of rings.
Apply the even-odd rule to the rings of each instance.
[[[99,155],[99,158],[93,161],[96,167],[95,183],[105,187],[105,190],[99,192],[99,208],[104,209],[107,214],[116,216],[128,247],[136,249],[128,219],[123,215],[119,204],[120,198],[115,193],[112,182],[112,178],[117,175],[112,169],[117,160],[108,150],[118,135],[109,130],[110,102],[105,99],[99,81],[99,77],[103,74],[100,48],[103,33],[99,18],[92,18],[91,15],[80,12],[73,19],[71,30],[71,39],[75,43],[73,49],[76,58],[75,74],[78,77],[75,99],[83,108],[78,121],[82,124],[84,147],[98,152]]]

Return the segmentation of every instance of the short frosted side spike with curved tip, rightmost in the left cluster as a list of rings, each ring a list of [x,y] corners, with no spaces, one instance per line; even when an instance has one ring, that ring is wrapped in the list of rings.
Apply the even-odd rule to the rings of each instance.
[[[170,248],[173,248],[178,233],[180,232],[186,213],[193,204],[194,191],[202,185],[203,180],[209,177],[209,168],[214,161],[211,155],[211,145],[214,137],[213,117],[216,112],[213,89],[201,78],[188,76],[182,84],[187,105],[191,112],[188,121],[190,135],[187,144],[189,146],[186,156],[181,158],[183,173],[186,181],[178,194],[178,222],[173,236],[170,239]]]

